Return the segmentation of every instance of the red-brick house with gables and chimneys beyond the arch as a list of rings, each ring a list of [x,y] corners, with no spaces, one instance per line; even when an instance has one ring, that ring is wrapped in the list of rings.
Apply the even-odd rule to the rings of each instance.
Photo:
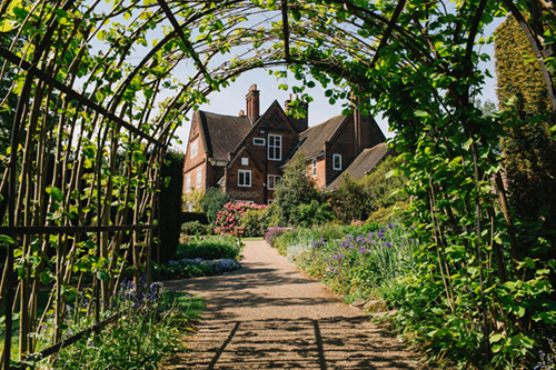
[[[289,100],[285,109],[288,109]],[[270,203],[281,167],[295,152],[307,156],[307,173],[319,188],[334,182],[366,148],[385,141],[371,117],[337,116],[308,127],[275,100],[259,114],[259,91],[250,87],[247,114],[196,111],[183,166],[183,192],[220,187],[236,201]],[[308,108],[308,107],[307,107]],[[384,146],[386,147],[386,146]]]

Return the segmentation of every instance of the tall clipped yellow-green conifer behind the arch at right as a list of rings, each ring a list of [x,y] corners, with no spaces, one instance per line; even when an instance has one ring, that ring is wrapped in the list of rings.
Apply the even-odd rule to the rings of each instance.
[[[549,130],[546,83],[537,60],[527,57],[534,52],[514,17],[498,27],[497,34],[497,94],[500,108],[508,113],[507,136],[502,146],[510,204],[520,220],[543,223],[555,243],[556,141]],[[523,237],[529,238],[528,234]]]

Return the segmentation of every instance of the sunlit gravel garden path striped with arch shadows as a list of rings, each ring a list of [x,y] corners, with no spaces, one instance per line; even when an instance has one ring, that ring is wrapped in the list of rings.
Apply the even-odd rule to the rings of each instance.
[[[241,269],[170,281],[207,302],[190,351],[171,369],[420,369],[363,312],[340,302],[265,241],[247,241]]]

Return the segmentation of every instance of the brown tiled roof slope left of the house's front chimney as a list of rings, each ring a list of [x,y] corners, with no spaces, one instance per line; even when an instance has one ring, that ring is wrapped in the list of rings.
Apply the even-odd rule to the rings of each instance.
[[[209,157],[229,160],[228,154],[236,149],[249,130],[251,121],[248,117],[222,116],[198,111],[207,140]]]

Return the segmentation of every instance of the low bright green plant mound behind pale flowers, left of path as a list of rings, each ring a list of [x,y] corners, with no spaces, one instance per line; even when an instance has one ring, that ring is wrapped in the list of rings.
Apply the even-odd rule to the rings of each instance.
[[[241,252],[241,244],[231,236],[195,238],[178,246],[173,260],[201,258],[215,260],[220,258],[237,259]]]

